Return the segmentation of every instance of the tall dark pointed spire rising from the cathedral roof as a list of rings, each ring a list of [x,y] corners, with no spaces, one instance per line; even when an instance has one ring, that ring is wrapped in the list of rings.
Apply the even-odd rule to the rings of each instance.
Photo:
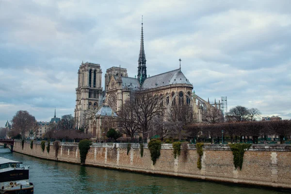
[[[141,47],[138,57],[138,73],[137,78],[142,84],[146,80],[146,54],[144,48],[144,29],[143,29],[143,17],[142,17],[142,32],[141,32]]]

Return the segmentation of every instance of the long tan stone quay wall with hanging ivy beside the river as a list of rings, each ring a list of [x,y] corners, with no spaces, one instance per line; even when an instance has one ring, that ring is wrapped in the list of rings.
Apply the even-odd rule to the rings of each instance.
[[[220,182],[251,184],[291,189],[291,146],[253,145],[244,152],[242,170],[235,169],[232,151],[227,145],[204,145],[202,168],[197,168],[195,145],[188,145],[187,158],[183,151],[175,159],[172,144],[162,144],[161,156],[153,165],[147,144],[141,157],[139,144],[94,143],[87,154],[86,165],[113,168],[148,174],[160,174],[184,178],[196,178]],[[46,145],[47,147],[47,145]],[[56,156],[53,143],[50,151],[41,150],[40,142],[15,142],[14,151],[37,158],[70,163],[81,163],[78,143],[61,143]]]

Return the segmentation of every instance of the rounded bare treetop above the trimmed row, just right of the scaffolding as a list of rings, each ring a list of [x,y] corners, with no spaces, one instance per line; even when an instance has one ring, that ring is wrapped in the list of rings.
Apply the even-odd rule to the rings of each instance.
[[[243,122],[249,120],[249,110],[243,106],[236,106],[231,108],[227,113],[227,118],[229,121],[233,122]]]

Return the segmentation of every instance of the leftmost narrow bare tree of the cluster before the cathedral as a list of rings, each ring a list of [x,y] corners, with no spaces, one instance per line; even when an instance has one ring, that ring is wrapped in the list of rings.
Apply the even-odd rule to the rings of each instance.
[[[118,113],[118,125],[120,132],[134,137],[134,133],[140,129],[138,116],[135,111],[136,104],[133,99],[127,99]]]

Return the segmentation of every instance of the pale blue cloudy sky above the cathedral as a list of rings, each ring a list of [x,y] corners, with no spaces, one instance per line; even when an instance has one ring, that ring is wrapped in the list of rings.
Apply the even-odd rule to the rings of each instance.
[[[82,61],[137,74],[179,68],[228,110],[291,118],[290,0],[0,0],[0,127],[18,110],[74,114]]]

